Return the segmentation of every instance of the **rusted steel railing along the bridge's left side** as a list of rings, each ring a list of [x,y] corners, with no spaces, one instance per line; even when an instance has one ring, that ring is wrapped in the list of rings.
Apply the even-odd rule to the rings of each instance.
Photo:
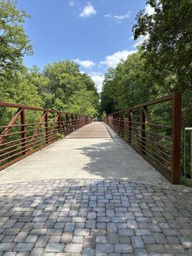
[[[0,170],[91,122],[88,116],[0,102]]]

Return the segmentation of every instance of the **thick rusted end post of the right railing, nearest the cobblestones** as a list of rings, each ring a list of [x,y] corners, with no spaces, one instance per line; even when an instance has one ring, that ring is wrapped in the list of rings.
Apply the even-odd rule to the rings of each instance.
[[[180,131],[181,131],[181,94],[173,94],[172,116],[172,183],[180,183]]]

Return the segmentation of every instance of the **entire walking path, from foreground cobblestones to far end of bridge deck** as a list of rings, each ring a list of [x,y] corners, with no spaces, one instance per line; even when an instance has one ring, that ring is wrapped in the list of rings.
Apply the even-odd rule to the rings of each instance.
[[[191,255],[191,193],[108,129],[87,125],[0,172],[0,256]]]

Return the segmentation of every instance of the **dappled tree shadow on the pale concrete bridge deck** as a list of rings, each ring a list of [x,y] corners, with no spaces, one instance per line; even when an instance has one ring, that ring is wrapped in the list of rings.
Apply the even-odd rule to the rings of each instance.
[[[88,157],[89,161],[83,166],[83,170],[102,179],[132,180],[146,184],[168,182],[122,138],[103,139],[100,143],[78,147],[76,150]]]

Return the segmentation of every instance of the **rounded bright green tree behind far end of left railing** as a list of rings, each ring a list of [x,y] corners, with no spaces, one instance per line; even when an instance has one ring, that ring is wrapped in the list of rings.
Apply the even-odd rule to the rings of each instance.
[[[89,102],[92,104],[94,111],[89,110],[88,113],[97,112],[99,95],[95,84],[90,76],[81,74],[77,63],[66,60],[47,64],[42,75],[49,79],[49,83],[40,92],[42,98],[44,98],[46,108],[55,108],[61,111],[78,109],[77,113],[79,113],[79,109],[84,109]],[[77,99],[75,100],[76,96]],[[83,100],[86,99],[85,97],[92,97],[92,99],[87,99],[86,102],[86,100]],[[74,107],[72,104],[74,104]]]

